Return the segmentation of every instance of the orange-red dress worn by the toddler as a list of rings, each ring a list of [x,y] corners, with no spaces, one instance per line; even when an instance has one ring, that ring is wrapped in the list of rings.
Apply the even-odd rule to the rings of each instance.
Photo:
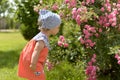
[[[49,49],[48,47],[43,48],[39,55],[36,70],[32,71],[29,66],[35,44],[36,40],[32,39],[22,50],[18,65],[18,76],[29,80],[45,80],[44,62],[46,61]]]

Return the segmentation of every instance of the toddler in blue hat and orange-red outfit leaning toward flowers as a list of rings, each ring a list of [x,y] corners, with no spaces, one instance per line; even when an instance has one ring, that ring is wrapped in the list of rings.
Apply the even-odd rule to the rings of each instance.
[[[18,76],[28,80],[45,80],[44,63],[50,49],[48,38],[58,33],[61,19],[49,10],[40,10],[38,24],[41,32],[27,43],[19,59]]]

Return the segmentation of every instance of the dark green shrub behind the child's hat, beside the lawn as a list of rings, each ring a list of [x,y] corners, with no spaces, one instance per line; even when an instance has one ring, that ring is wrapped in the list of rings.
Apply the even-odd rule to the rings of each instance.
[[[33,10],[33,6],[37,3],[38,1],[22,0],[17,5],[18,19],[24,24],[24,26],[21,26],[20,30],[26,40],[30,40],[39,32],[37,26],[38,14]]]

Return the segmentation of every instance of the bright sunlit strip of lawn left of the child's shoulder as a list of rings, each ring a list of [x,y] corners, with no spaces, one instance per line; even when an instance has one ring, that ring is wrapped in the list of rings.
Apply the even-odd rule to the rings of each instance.
[[[0,50],[19,49],[26,41],[19,32],[0,33]]]

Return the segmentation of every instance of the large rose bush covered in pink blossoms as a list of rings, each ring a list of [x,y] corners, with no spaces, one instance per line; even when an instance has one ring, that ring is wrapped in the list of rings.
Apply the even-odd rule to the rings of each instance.
[[[57,41],[57,37],[51,40],[53,50],[50,51],[49,59],[52,62],[56,64],[68,60],[75,65],[82,61],[88,80],[120,79],[117,75],[120,73],[117,64],[120,49],[120,0],[40,0],[40,4],[34,7],[36,12],[38,9],[52,10],[62,18],[57,37],[64,35],[65,41],[61,38]],[[96,57],[91,59],[93,54]],[[94,62],[90,64],[91,61]],[[94,72],[94,79],[89,70]]]

